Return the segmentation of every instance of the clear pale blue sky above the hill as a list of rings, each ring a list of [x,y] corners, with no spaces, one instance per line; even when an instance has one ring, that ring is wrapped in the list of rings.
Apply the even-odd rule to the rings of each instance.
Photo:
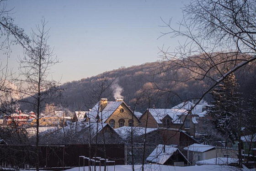
[[[30,35],[42,19],[50,28],[48,44],[61,61],[51,71],[62,83],[119,67],[159,60],[158,47],[174,50],[178,39],[161,36],[172,18],[182,20],[190,0],[8,0],[9,14]],[[12,47],[9,68],[17,71],[22,48]]]

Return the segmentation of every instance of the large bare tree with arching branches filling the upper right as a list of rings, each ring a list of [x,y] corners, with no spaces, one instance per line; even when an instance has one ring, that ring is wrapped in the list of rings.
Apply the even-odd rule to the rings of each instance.
[[[202,99],[230,73],[256,59],[256,3],[254,0],[193,0],[183,9],[179,29],[169,22],[162,36],[185,37],[175,52],[161,48],[163,72],[183,72],[169,80],[208,80]],[[223,73],[223,67],[229,67]],[[200,101],[199,100],[199,101]]]

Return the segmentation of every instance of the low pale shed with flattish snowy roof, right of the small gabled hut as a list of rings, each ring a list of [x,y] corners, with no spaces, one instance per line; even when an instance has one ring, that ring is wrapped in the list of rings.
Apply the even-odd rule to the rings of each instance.
[[[185,151],[184,151],[185,150]],[[216,147],[203,144],[192,144],[183,148],[183,154],[188,150],[188,160],[195,164],[197,161],[204,161],[216,157],[229,157],[237,159],[238,150],[232,148]],[[186,155],[187,156],[187,155]]]

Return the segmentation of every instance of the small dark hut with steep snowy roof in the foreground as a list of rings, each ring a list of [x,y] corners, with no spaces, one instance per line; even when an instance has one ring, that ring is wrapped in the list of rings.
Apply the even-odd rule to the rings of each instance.
[[[188,164],[187,158],[176,145],[157,145],[155,150],[147,157],[147,162],[160,165],[184,166]]]

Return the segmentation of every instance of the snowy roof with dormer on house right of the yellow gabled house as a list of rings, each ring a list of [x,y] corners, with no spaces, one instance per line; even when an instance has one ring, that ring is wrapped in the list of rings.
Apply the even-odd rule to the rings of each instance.
[[[181,115],[187,114],[185,109],[148,109],[158,124],[162,124],[162,119],[168,114],[174,124],[183,124],[180,119]]]

